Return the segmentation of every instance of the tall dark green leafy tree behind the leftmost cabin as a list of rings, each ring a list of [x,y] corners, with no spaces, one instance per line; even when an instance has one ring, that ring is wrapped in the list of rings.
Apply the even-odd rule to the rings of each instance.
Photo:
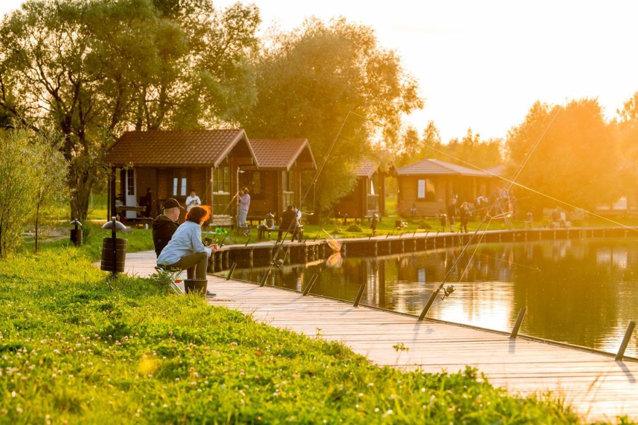
[[[84,220],[115,135],[232,121],[251,102],[258,23],[255,6],[209,0],[29,0],[0,27],[0,111],[63,135]]]

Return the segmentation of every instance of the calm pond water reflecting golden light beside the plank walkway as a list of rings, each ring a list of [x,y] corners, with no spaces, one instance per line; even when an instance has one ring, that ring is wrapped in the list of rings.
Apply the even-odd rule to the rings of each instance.
[[[471,247],[468,253],[475,250]],[[353,301],[367,282],[362,304],[419,314],[460,249],[378,258],[325,260],[274,269],[269,285]],[[509,331],[519,309],[521,333],[616,352],[629,320],[638,319],[638,239],[584,239],[481,245],[465,255],[449,282],[456,292],[437,299],[428,316]],[[260,281],[265,268],[235,271]],[[638,356],[638,332],[627,355]]]

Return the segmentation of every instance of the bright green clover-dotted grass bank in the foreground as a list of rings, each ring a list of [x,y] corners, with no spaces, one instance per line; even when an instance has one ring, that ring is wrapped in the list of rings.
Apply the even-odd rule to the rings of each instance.
[[[107,276],[91,250],[0,261],[0,422],[574,423],[472,369],[369,364],[339,343],[264,324],[160,278]]]

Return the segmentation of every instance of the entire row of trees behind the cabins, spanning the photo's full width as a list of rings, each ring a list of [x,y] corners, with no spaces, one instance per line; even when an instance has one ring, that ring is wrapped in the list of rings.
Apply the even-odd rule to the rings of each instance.
[[[399,166],[438,158],[508,164],[507,175],[526,161],[517,182],[585,207],[635,191],[636,96],[611,123],[594,99],[536,103],[505,140],[468,130],[446,143],[434,123],[421,133],[404,126],[424,101],[370,27],[307,19],[258,38],[260,22],[253,4],[219,10],[211,0],[28,0],[0,25],[0,125],[61,135],[52,147],[80,220],[105,180],[103,153],[125,130],[234,126],[254,138],[307,137],[319,161],[339,135],[314,191],[324,211],[375,149]],[[521,202],[556,205],[517,191]]]

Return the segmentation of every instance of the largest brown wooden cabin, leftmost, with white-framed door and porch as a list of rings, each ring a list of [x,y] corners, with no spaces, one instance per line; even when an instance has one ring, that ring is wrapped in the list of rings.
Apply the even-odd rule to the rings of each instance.
[[[238,175],[259,165],[241,129],[127,131],[107,149],[105,161],[111,167],[109,217],[120,213],[138,219],[147,188],[152,191],[151,217],[161,213],[167,198],[184,205],[194,189],[203,205],[212,205],[216,223],[232,223]]]

